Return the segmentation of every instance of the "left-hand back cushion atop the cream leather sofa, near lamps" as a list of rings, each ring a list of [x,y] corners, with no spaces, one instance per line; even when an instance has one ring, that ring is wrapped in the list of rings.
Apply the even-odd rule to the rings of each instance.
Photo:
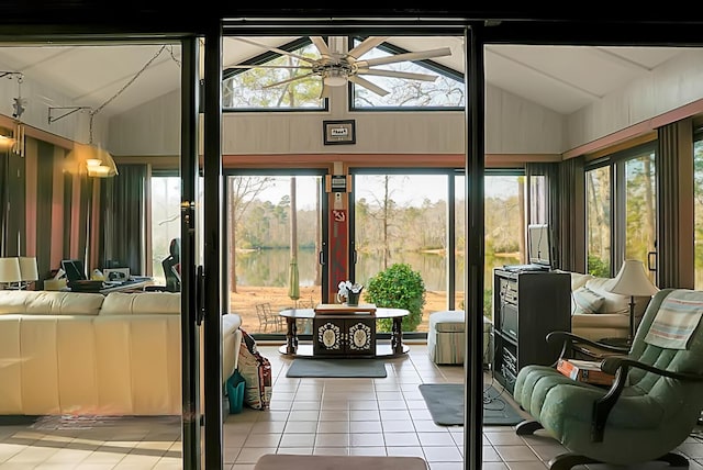
[[[98,315],[104,295],[91,292],[0,291],[0,315]]]

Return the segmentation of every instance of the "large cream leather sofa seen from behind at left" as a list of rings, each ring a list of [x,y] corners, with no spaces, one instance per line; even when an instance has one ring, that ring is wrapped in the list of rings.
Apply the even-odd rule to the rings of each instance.
[[[0,414],[179,415],[180,293],[0,291]],[[223,322],[223,380],[239,315]]]

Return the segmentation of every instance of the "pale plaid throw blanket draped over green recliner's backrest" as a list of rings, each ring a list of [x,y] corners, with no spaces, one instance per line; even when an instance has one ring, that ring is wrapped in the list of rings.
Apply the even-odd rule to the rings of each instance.
[[[645,343],[669,349],[687,349],[691,334],[703,315],[703,295],[679,289],[661,302]]]

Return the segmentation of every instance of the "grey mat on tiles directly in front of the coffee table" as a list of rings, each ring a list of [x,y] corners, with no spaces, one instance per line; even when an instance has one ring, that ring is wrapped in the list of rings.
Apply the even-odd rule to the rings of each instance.
[[[286,377],[383,378],[386,362],[379,359],[302,359],[297,358]]]

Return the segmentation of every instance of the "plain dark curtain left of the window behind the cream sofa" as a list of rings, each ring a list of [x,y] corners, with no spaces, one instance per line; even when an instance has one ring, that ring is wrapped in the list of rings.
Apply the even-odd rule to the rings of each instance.
[[[118,165],[118,176],[101,180],[99,256],[103,267],[146,270],[146,165]]]

